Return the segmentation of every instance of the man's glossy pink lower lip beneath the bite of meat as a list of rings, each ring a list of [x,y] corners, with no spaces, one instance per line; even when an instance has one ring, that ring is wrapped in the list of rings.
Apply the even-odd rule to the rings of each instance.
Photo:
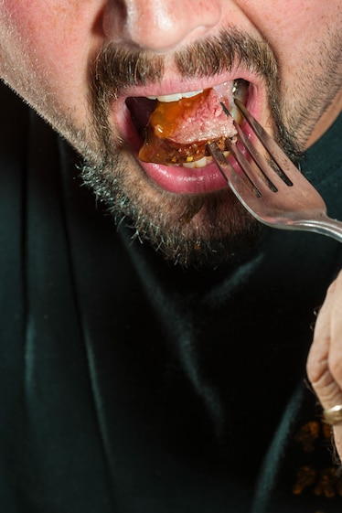
[[[215,163],[198,168],[139,163],[159,187],[176,194],[203,194],[227,187]]]

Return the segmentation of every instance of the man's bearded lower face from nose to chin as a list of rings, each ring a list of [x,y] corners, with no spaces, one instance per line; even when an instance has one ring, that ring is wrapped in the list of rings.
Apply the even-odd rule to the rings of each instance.
[[[0,0],[0,76],[84,157],[83,176],[167,259],[213,265],[259,224],[214,163],[138,158],[147,97],[250,84],[290,154],[341,111],[340,0]]]

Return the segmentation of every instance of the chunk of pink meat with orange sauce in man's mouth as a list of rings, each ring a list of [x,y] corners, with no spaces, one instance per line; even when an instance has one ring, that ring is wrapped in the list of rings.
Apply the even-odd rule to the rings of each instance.
[[[220,102],[230,108],[230,99],[208,89],[178,102],[157,102],[145,129],[139,158],[144,162],[181,165],[206,155],[208,141],[222,146],[236,134],[230,116]]]

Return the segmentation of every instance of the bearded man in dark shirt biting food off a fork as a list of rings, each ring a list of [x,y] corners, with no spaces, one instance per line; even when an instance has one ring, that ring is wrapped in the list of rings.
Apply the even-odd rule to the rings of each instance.
[[[342,219],[341,3],[0,14],[4,511],[341,511],[305,365],[342,246],[262,227],[215,163],[191,164],[242,88]],[[150,116],[184,98],[205,112],[196,137],[171,115],[187,165],[144,162]]]

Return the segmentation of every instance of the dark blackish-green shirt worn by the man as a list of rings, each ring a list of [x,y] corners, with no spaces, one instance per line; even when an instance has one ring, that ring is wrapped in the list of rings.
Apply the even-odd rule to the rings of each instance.
[[[265,228],[234,266],[167,265],[0,98],[1,510],[340,512],[305,359],[342,246]],[[303,164],[339,219],[341,127]]]

